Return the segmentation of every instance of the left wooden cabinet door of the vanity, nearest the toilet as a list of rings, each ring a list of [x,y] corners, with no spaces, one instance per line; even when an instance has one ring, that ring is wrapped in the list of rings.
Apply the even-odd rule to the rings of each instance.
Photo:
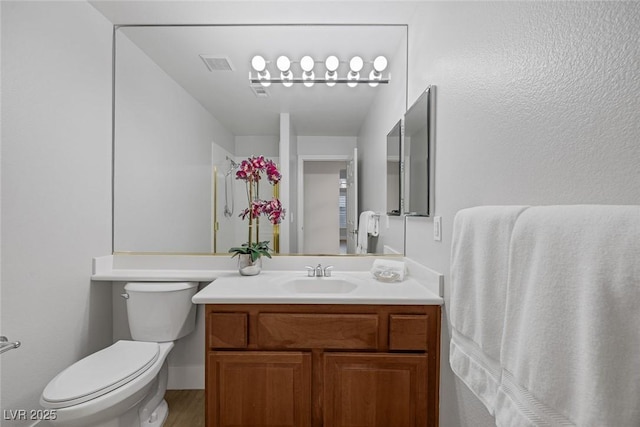
[[[311,355],[209,352],[208,427],[307,427]]]

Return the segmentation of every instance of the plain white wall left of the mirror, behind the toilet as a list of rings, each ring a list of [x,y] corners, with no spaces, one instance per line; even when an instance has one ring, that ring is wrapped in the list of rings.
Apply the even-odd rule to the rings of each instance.
[[[2,8],[2,410],[111,344],[111,24],[85,2]],[[3,412],[4,413],[4,412]],[[31,422],[3,421],[3,426]]]

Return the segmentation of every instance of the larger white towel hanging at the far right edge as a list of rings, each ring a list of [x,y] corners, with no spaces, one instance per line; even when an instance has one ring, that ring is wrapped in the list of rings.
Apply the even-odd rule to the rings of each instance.
[[[638,325],[640,206],[527,209],[511,240],[496,424],[640,426]]]

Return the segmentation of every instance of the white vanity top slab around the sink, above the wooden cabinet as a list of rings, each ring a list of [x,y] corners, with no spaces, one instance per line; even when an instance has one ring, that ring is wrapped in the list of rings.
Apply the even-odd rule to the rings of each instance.
[[[295,293],[283,286],[288,279],[306,276],[305,272],[297,271],[263,270],[257,276],[225,272],[198,292],[192,301],[195,304],[443,304],[440,296],[415,278],[384,283],[369,272],[335,272],[332,278],[311,278],[318,283],[341,278],[358,283],[354,290],[345,293]]]

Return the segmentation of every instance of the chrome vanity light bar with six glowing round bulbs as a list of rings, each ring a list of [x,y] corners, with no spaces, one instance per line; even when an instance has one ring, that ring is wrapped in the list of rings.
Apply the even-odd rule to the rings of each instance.
[[[264,87],[269,87],[272,83],[281,83],[285,87],[291,87],[294,83],[302,83],[306,87],[312,87],[315,83],[325,83],[327,86],[332,87],[336,84],[347,84],[349,87],[356,87],[359,83],[366,83],[371,87],[376,87],[379,84],[388,84],[390,81],[390,75],[383,76],[383,72],[387,69],[388,61],[384,56],[378,56],[373,61],[365,62],[361,57],[354,56],[348,62],[340,61],[338,57],[331,55],[325,61],[315,61],[310,56],[304,56],[300,61],[291,61],[288,57],[282,55],[275,61],[277,71],[274,70],[276,78],[271,78],[271,73],[267,69],[270,61],[264,59],[260,55],[256,55],[251,59],[252,71],[249,71],[249,81],[252,84],[261,84]],[[292,64],[298,64],[300,69],[298,77],[294,77],[292,71]],[[339,76],[339,68],[341,64],[349,64],[348,72],[345,76]],[[320,72],[317,70],[317,64],[323,64],[324,70]],[[370,68],[370,71],[364,72],[364,75],[368,78],[360,78],[361,72],[364,68]],[[317,77],[316,71],[320,76]]]

